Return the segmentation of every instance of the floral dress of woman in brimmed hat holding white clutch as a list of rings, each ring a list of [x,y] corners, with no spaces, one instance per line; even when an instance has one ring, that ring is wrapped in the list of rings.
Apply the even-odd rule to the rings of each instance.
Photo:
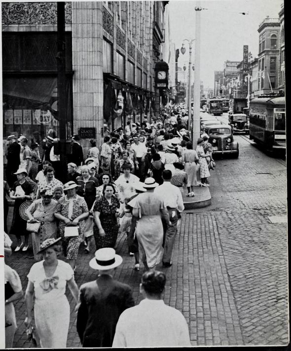
[[[73,205],[73,208],[71,207]],[[72,214],[70,213],[72,210]],[[71,218],[72,220],[80,216],[82,213],[88,212],[88,206],[84,197],[75,195],[71,198],[68,198],[67,195],[61,197],[56,207],[56,212],[60,213],[66,218]],[[76,260],[79,252],[80,243],[83,241],[85,220],[82,219],[78,223],[79,227],[79,236],[73,237],[64,237],[66,224],[64,221],[60,221],[59,229],[60,236],[63,238],[63,250],[64,254],[67,254],[69,260]]]

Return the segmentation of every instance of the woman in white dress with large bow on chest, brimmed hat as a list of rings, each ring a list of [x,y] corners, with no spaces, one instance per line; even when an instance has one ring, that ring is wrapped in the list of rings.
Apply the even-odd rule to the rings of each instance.
[[[41,348],[64,349],[70,323],[70,305],[65,295],[66,286],[78,301],[79,289],[71,266],[58,256],[62,250],[61,238],[43,241],[38,253],[43,260],[35,263],[28,273],[25,293],[27,327],[32,324],[33,296],[35,295],[35,324]]]

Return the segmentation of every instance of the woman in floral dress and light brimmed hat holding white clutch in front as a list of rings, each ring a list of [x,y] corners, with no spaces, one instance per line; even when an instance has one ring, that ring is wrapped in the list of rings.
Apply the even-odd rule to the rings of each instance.
[[[60,235],[64,254],[67,254],[70,266],[75,270],[76,260],[79,252],[80,243],[83,241],[85,218],[89,215],[88,206],[84,197],[76,194],[77,184],[73,181],[64,185],[67,195],[59,199],[55,217],[60,220]],[[65,237],[66,226],[78,226],[79,235]]]

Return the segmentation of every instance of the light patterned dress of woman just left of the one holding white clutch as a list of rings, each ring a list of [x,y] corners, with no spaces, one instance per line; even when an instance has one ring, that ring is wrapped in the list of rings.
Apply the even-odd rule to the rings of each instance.
[[[48,205],[43,205],[42,199],[35,200],[28,208],[28,211],[33,215],[34,219],[40,222],[40,228],[37,233],[32,233],[33,249],[36,261],[42,260],[42,255],[37,252],[40,250],[40,245],[46,239],[55,238],[57,233],[56,212],[58,201],[51,199]]]

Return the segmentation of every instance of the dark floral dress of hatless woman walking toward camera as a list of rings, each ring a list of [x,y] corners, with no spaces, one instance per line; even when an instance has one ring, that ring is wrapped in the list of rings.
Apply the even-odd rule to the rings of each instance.
[[[100,212],[101,226],[105,232],[105,236],[99,235],[99,230],[94,223],[94,238],[96,243],[96,250],[103,247],[114,247],[118,234],[116,211],[119,208],[119,201],[112,196],[111,203],[103,196],[96,200],[94,205],[94,212]]]

